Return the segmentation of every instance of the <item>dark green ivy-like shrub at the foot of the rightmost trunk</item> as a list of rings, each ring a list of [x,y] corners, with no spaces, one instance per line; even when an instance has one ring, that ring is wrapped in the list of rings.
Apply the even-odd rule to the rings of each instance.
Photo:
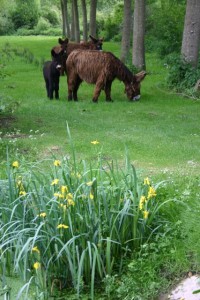
[[[170,55],[166,59],[166,66],[169,68],[168,86],[178,92],[198,97],[198,91],[194,87],[200,78],[200,63],[194,68],[180,55]]]

